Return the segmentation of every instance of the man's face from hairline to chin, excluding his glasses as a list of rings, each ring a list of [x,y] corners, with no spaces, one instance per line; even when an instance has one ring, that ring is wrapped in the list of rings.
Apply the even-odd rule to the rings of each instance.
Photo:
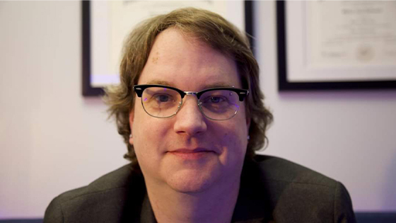
[[[233,59],[175,28],[156,38],[139,84],[162,84],[182,91],[242,87]],[[194,193],[239,183],[248,145],[244,103],[233,118],[216,121],[202,115],[196,96],[185,96],[175,116],[154,118],[136,97],[129,122],[130,143],[148,186]]]

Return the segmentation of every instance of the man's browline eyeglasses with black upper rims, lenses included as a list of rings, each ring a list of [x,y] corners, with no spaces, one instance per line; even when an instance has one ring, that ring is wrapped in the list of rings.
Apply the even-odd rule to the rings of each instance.
[[[211,120],[228,120],[238,112],[240,102],[249,91],[239,88],[209,88],[203,91],[182,91],[156,84],[135,85],[134,91],[141,98],[141,105],[148,115],[170,118],[180,110],[186,95],[197,96],[201,113]]]

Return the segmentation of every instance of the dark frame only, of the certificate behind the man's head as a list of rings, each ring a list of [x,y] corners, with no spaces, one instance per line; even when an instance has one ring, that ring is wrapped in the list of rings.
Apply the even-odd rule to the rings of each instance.
[[[245,30],[253,35],[252,1],[245,1]],[[82,93],[83,96],[103,96],[103,88],[91,86],[91,2],[81,1],[82,8]],[[251,46],[252,39],[250,38]],[[253,48],[252,48],[253,49]]]

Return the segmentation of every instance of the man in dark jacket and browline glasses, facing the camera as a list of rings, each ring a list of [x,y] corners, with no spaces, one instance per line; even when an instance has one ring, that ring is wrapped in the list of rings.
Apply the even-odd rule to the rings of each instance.
[[[344,186],[271,156],[248,40],[209,11],[184,8],[124,45],[110,114],[131,164],[55,198],[45,222],[355,222]]]

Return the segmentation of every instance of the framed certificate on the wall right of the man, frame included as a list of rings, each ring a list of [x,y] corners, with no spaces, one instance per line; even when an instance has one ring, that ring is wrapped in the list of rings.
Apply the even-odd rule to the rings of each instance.
[[[396,1],[276,1],[279,91],[396,89]]]

